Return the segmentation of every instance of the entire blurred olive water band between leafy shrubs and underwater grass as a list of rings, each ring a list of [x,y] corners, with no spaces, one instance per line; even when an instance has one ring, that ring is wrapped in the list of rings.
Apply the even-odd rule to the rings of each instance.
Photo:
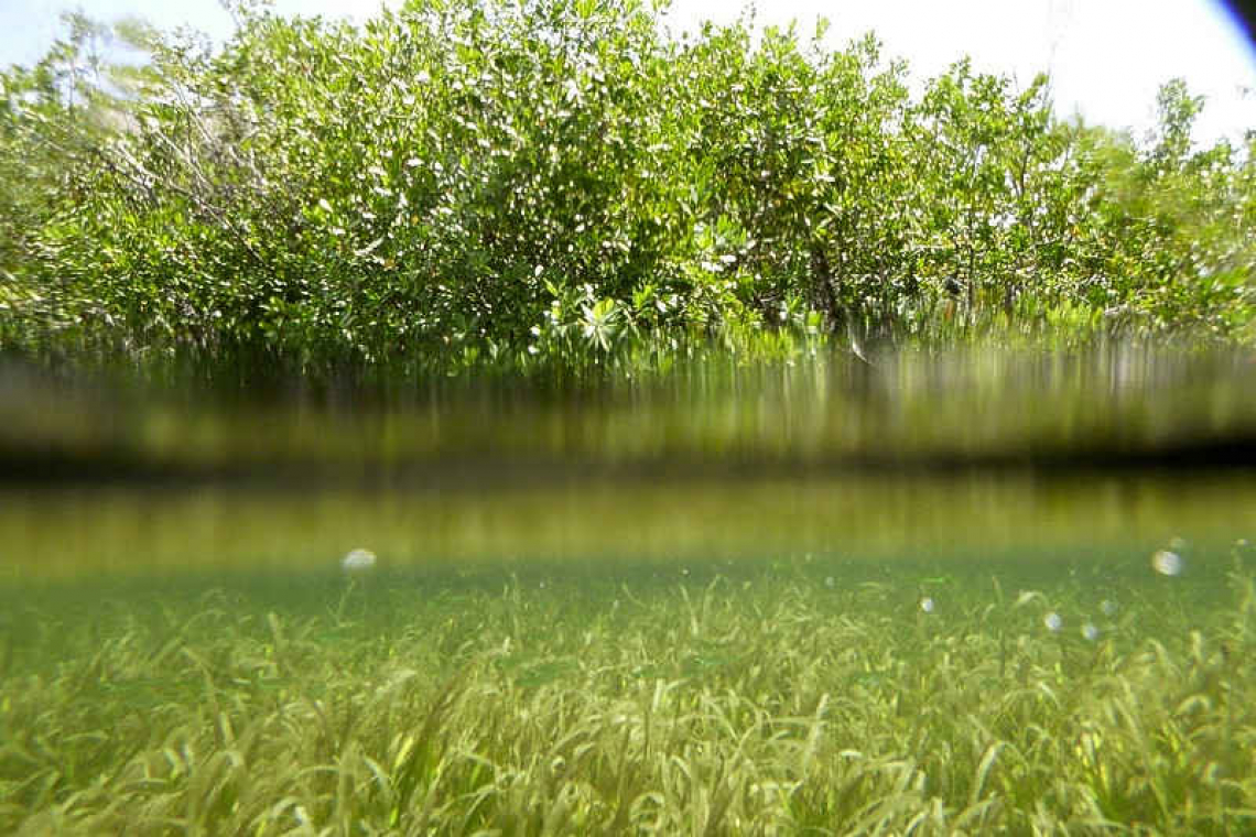
[[[538,395],[208,399],[3,376],[10,581],[529,561],[1225,545],[1256,520],[1256,365],[1084,354],[695,365]]]

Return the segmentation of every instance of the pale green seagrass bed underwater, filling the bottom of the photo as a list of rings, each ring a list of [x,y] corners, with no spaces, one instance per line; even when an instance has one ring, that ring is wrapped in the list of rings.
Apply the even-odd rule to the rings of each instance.
[[[0,828],[1250,833],[1250,558],[49,589],[4,611]]]

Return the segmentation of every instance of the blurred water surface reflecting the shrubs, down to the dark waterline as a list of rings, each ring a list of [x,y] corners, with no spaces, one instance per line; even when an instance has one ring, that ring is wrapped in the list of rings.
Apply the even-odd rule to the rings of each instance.
[[[381,376],[206,393],[178,375],[154,390],[129,373],[50,379],[0,366],[0,486],[480,483],[487,496],[580,476],[1233,469],[1256,452],[1251,350],[1098,341],[867,356],[830,349],[742,363],[707,348],[666,371],[585,380],[574,392],[544,378]]]

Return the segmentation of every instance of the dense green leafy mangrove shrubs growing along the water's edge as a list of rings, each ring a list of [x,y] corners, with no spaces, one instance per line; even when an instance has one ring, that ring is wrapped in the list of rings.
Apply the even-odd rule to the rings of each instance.
[[[82,18],[0,95],[0,340],[306,371],[657,363],[716,339],[1250,340],[1256,137],[1061,122],[870,36],[662,34],[638,0],[240,5],[208,49]],[[90,59],[90,60],[88,60]]]

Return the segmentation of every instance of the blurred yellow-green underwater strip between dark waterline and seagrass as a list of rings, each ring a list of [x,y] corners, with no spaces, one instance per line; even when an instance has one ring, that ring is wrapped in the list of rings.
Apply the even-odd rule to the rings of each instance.
[[[1251,531],[1242,473],[875,474],[575,481],[510,488],[10,488],[5,576],[793,556],[1061,562]]]

